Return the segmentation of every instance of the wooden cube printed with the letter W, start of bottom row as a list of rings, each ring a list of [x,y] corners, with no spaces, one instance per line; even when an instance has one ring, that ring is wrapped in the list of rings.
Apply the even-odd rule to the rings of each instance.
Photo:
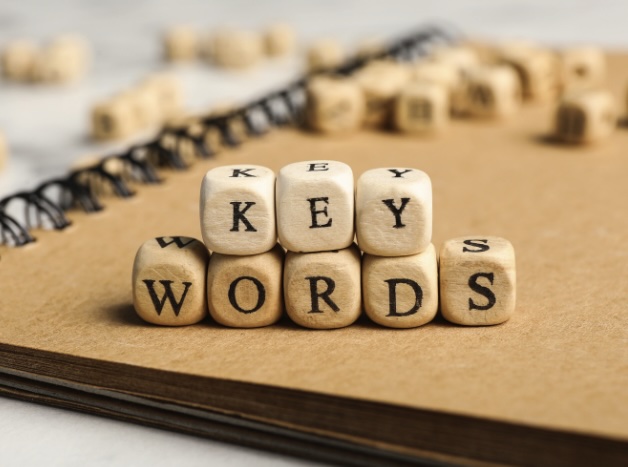
[[[209,253],[190,237],[157,237],[140,246],[133,262],[133,304],[144,321],[163,326],[198,323],[207,315]]]

